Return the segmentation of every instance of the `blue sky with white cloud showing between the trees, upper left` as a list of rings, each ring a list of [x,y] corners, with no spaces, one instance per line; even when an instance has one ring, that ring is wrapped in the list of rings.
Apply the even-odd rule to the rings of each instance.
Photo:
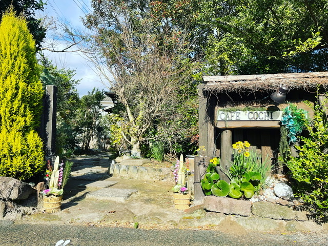
[[[56,22],[68,22],[75,28],[83,28],[81,17],[91,11],[90,0],[47,0],[45,10],[39,15],[53,17]],[[51,31],[47,32],[50,38]],[[101,83],[98,75],[88,65],[87,60],[78,53],[53,53],[44,51],[45,55],[52,60],[58,68],[70,68],[76,70],[74,79],[81,79],[77,90],[80,96],[86,95],[94,87],[108,90]]]

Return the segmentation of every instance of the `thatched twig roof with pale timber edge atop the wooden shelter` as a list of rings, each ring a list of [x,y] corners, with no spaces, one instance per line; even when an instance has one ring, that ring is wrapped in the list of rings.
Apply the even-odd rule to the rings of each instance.
[[[216,93],[274,91],[281,85],[290,90],[314,91],[318,86],[328,90],[328,72],[204,76],[203,80],[204,89]]]

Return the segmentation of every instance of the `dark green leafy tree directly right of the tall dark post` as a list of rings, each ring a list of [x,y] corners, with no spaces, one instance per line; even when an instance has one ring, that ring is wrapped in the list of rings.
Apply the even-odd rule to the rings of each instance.
[[[40,61],[43,69],[41,74],[43,84],[57,87],[56,152],[73,152],[78,145],[75,125],[79,107],[76,86],[79,80],[73,79],[74,70],[58,69],[44,57]]]

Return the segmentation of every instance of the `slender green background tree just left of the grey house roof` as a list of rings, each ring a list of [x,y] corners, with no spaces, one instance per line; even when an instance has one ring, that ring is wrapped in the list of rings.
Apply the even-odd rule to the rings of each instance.
[[[101,105],[100,101],[105,98],[103,91],[93,89],[80,99],[77,109],[76,127],[79,129],[79,138],[83,151],[88,151],[91,140],[97,140],[100,129]]]

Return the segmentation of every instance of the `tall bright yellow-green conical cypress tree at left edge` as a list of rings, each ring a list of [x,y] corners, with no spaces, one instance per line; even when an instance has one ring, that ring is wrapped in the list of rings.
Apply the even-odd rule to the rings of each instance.
[[[0,176],[26,180],[44,167],[35,129],[42,112],[35,42],[13,10],[0,23]]]

